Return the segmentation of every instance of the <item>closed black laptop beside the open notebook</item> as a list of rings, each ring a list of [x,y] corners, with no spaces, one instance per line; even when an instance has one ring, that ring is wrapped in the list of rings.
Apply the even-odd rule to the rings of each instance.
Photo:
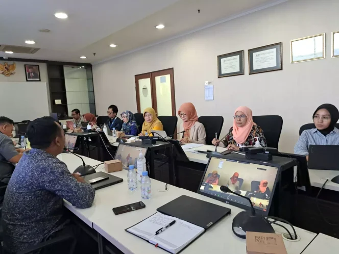
[[[205,230],[231,213],[231,209],[229,208],[186,195],[182,195],[168,202],[166,205],[159,207],[157,211],[201,226],[205,228]]]

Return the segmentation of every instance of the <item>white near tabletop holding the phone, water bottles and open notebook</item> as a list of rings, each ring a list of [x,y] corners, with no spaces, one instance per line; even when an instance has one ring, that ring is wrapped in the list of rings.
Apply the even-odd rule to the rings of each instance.
[[[73,172],[81,164],[81,162],[75,159],[74,155],[71,154],[61,154],[58,158],[66,163],[70,172]],[[82,156],[82,158],[86,164],[91,166],[101,163],[100,161],[84,156]],[[104,171],[104,165],[98,166],[96,171]],[[95,192],[92,207],[78,209],[73,207],[68,201],[64,201],[64,206],[69,211],[98,232],[98,238],[101,238],[101,240],[98,240],[99,253],[103,253],[104,248],[102,237],[106,238],[111,244],[124,253],[165,253],[164,250],[155,248],[154,245],[126,232],[125,229],[156,213],[157,208],[181,195],[198,198],[232,210],[230,215],[221,219],[197,241],[190,244],[184,250],[184,253],[210,252],[211,244],[213,245],[213,252],[216,253],[222,253],[225,252],[225,250],[232,254],[246,253],[246,240],[236,237],[231,228],[234,216],[243,211],[243,209],[172,185],[167,185],[168,190],[164,191],[165,183],[152,179],[152,198],[149,200],[142,200],[146,205],[146,208],[125,214],[114,215],[112,208],[140,201],[141,197],[139,188],[134,192],[128,190],[126,170],[110,174],[122,178],[124,182],[97,190]],[[277,225],[273,225],[273,227],[277,234],[285,233],[282,227]],[[300,240],[297,242],[284,240],[288,254],[300,254],[314,237],[317,236],[317,234],[303,230],[302,228],[295,227],[295,229],[297,235],[300,236]]]

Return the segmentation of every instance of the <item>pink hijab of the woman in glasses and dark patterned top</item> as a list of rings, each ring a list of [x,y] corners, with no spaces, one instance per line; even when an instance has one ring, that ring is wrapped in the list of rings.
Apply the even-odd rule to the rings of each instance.
[[[237,108],[234,112],[234,115],[238,111],[244,112],[244,115],[247,116],[247,122],[243,127],[238,127],[238,125],[236,125],[236,120],[233,119],[232,134],[233,134],[233,139],[235,140],[237,144],[244,144],[252,131],[253,125],[256,125],[256,123],[253,122],[252,110],[250,110],[248,107],[241,106]]]

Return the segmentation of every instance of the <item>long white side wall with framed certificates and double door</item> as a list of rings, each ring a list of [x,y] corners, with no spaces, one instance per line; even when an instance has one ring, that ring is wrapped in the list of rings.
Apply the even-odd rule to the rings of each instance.
[[[254,115],[276,114],[284,124],[281,151],[293,151],[299,128],[323,103],[339,107],[339,58],[330,58],[331,32],[339,30],[338,0],[290,0],[130,55],[94,65],[96,111],[111,104],[136,112],[134,75],[174,68],[176,109],[186,101],[198,115],[222,115],[222,135],[238,106]],[[290,64],[289,41],[326,33],[326,59]],[[248,75],[247,50],[283,43],[283,70]],[[217,78],[216,56],[245,49],[245,75]],[[204,100],[204,82],[214,81],[214,100]],[[180,123],[180,120],[179,122]]]

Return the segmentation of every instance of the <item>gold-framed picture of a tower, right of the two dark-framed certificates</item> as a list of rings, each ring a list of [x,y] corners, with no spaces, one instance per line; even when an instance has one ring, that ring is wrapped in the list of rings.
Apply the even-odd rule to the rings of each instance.
[[[325,58],[325,33],[290,41],[290,62],[299,63]]]

